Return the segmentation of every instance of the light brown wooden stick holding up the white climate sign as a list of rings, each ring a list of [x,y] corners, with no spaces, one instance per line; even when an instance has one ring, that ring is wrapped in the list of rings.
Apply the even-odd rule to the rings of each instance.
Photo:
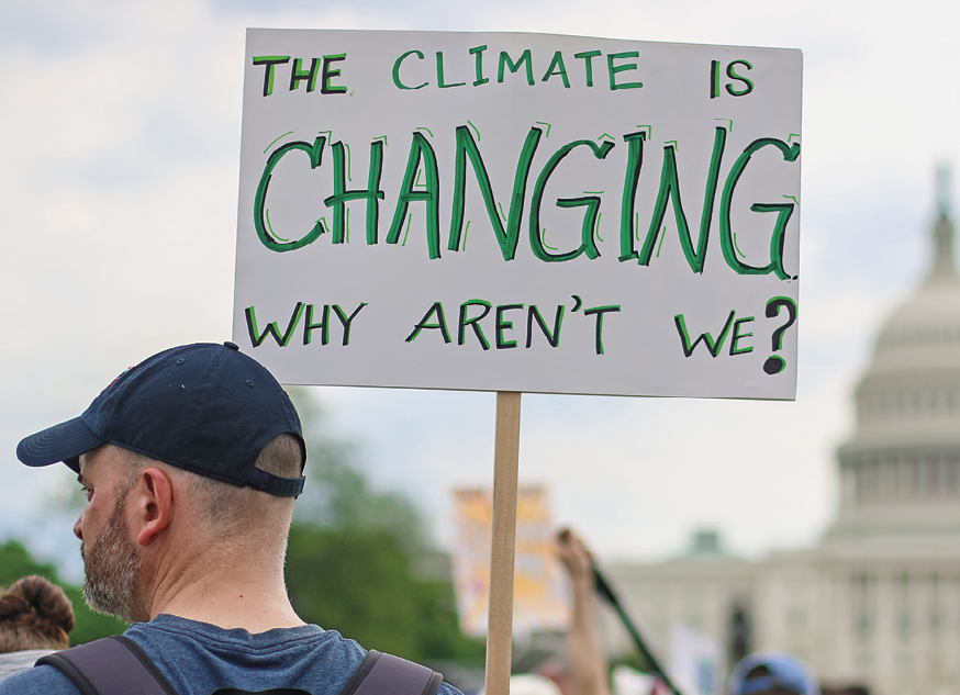
[[[516,552],[516,480],[520,393],[496,393],[493,448],[493,528],[487,630],[487,695],[510,695],[513,650],[513,558]]]

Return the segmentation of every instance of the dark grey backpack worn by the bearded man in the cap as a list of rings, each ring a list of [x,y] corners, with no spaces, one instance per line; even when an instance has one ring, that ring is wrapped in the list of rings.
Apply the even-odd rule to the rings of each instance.
[[[166,676],[139,644],[123,635],[104,637],[37,659],[64,673],[81,695],[177,695]],[[339,695],[436,695],[444,676],[426,666],[371,649]],[[249,691],[220,688],[211,695],[245,695]],[[260,695],[310,695],[279,687]]]

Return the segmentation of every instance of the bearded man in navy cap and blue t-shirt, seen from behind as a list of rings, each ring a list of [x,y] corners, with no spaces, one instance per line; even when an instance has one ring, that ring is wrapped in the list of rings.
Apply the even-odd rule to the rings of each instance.
[[[125,636],[179,695],[337,695],[364,662],[365,649],[305,624],[287,596],[306,450],[287,393],[237,346],[148,358],[79,417],[21,441],[18,457],[78,473],[83,595],[133,624]],[[0,695],[79,692],[52,665],[0,684]]]

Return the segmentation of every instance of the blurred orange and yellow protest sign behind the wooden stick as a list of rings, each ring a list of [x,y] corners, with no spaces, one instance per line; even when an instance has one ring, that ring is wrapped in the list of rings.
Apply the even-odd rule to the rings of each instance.
[[[457,542],[454,583],[465,635],[487,635],[493,497],[490,490],[454,491]],[[570,588],[554,550],[552,520],[543,485],[521,485],[516,500],[514,632],[565,630]]]

